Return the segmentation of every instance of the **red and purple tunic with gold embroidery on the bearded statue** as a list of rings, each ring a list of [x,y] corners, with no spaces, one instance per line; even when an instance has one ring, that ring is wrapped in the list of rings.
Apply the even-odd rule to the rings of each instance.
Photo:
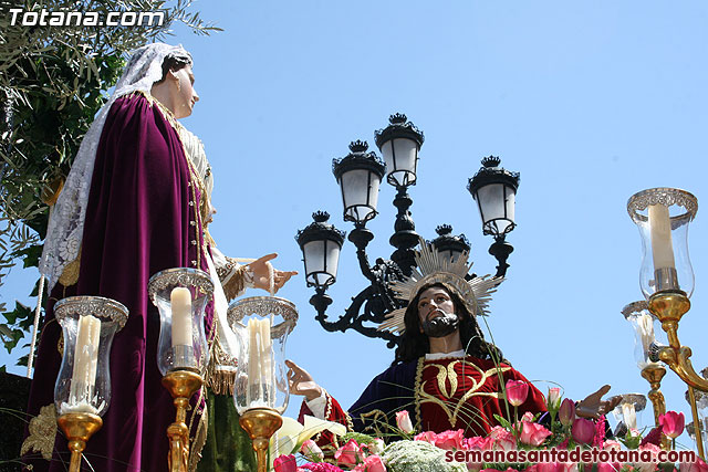
[[[386,424],[396,424],[396,411],[408,410],[417,431],[462,429],[467,437],[486,436],[499,424],[494,415],[507,419],[513,416],[513,407],[503,394],[508,380],[529,384],[519,417],[546,410],[543,394],[507,364],[472,356],[436,360],[421,357],[389,367],[374,378],[348,413],[327,395],[325,419],[378,434],[385,432]],[[300,415],[312,415],[304,402]]]

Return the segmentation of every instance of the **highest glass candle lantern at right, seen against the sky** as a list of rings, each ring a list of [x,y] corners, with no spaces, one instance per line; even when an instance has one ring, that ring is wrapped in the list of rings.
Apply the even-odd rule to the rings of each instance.
[[[688,256],[688,223],[698,200],[673,188],[654,188],[633,195],[627,211],[642,235],[639,285],[645,297],[657,292],[694,292],[694,270]]]

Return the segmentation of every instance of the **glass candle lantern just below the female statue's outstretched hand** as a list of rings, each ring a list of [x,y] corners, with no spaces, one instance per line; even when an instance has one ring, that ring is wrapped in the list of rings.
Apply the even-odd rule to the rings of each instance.
[[[239,415],[258,408],[282,415],[290,397],[285,342],[298,323],[295,305],[275,296],[252,296],[233,302],[227,316],[239,338],[233,388]]]

